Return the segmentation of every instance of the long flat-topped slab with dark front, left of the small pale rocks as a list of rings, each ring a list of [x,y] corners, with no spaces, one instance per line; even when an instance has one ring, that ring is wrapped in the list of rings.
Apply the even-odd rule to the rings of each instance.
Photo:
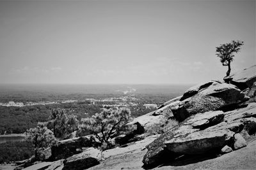
[[[199,131],[179,136],[165,141],[166,148],[173,153],[180,154],[200,154],[220,150],[228,145],[232,140],[234,132],[228,130],[221,131]]]

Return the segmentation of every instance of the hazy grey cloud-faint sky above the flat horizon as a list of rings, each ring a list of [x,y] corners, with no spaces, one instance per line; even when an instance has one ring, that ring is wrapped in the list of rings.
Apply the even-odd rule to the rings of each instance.
[[[256,64],[255,1],[0,1],[0,83],[200,83]]]

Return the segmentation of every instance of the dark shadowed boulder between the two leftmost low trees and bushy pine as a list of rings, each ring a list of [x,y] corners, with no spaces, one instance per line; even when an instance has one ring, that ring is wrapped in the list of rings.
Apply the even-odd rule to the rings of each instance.
[[[67,157],[81,153],[83,147],[88,148],[97,145],[99,143],[97,143],[97,139],[93,135],[58,141],[56,145],[51,147],[52,159],[66,159]]]

